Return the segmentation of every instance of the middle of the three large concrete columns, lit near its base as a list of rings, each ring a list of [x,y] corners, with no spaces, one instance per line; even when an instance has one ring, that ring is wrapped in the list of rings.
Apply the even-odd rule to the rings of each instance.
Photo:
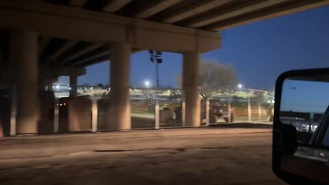
[[[111,112],[110,124],[114,130],[130,130],[130,55],[132,47],[123,42],[110,46]]]

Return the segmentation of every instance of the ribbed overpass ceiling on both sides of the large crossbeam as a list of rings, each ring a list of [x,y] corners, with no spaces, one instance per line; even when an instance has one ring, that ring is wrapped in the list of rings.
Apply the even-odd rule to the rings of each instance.
[[[37,0],[207,31],[326,5],[329,0]],[[0,42],[8,39],[1,34]],[[5,45],[5,44],[1,44]],[[133,49],[133,52],[141,51]],[[40,36],[41,65],[82,67],[110,58],[103,43]]]

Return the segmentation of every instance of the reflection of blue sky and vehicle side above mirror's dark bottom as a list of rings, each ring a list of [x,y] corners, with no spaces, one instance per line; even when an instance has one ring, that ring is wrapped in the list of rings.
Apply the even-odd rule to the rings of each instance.
[[[284,81],[280,122],[297,131],[294,156],[328,162],[329,77],[291,77]]]

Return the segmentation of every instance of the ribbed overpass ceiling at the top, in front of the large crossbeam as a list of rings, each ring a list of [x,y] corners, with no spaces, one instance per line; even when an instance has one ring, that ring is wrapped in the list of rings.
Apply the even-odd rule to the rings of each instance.
[[[220,31],[329,4],[328,0],[43,1],[208,31]]]

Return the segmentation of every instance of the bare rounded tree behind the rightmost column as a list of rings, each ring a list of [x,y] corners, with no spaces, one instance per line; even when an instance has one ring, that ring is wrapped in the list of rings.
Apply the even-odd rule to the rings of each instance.
[[[219,92],[221,88],[235,88],[238,75],[231,64],[221,64],[216,61],[203,61],[200,75],[202,80],[201,95],[208,99]],[[182,87],[182,77],[176,76],[178,86]]]

